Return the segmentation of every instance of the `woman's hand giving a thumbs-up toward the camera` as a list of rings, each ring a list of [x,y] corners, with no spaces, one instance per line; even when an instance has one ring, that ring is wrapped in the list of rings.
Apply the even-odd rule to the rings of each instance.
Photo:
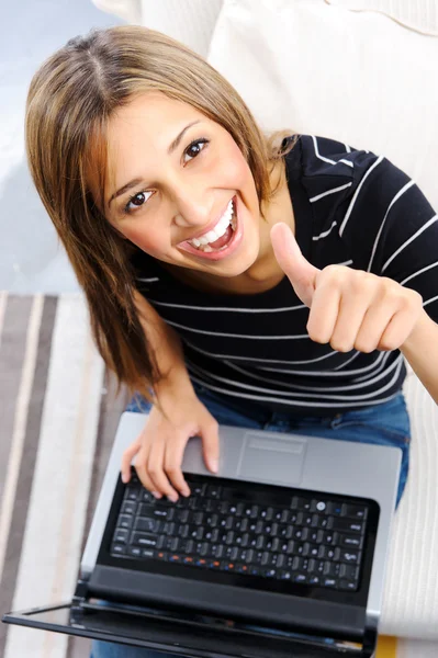
[[[276,258],[300,299],[311,309],[312,340],[338,352],[400,349],[423,310],[423,297],[386,276],[327,265],[318,270],[302,254],[287,224],[271,229]]]

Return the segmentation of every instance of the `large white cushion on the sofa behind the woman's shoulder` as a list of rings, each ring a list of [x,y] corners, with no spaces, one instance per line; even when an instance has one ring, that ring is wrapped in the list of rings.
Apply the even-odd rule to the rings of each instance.
[[[438,211],[438,38],[307,0],[224,0],[209,52],[266,131],[383,154]]]

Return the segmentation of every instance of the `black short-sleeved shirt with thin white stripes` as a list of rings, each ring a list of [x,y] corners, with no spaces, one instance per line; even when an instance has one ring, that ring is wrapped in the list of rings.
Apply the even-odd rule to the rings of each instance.
[[[285,162],[304,257],[414,288],[438,322],[438,220],[418,186],[382,156],[312,135]],[[402,387],[398,350],[341,353],[312,341],[310,309],[287,277],[255,295],[205,294],[142,251],[133,264],[139,292],[181,337],[192,381],[235,402],[332,416],[384,402]]]

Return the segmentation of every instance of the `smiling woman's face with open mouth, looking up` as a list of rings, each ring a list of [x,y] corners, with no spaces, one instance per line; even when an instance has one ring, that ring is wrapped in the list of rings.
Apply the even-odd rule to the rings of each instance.
[[[149,256],[218,276],[256,261],[251,171],[232,136],[191,105],[147,92],[119,109],[109,166],[105,216]]]

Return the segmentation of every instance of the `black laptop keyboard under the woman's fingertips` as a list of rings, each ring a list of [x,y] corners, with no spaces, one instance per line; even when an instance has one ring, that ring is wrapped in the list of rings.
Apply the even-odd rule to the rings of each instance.
[[[368,507],[184,474],[189,498],[157,500],[135,473],[111,555],[357,591]],[[226,484],[225,484],[226,483]],[[240,485],[240,486],[238,486]]]

